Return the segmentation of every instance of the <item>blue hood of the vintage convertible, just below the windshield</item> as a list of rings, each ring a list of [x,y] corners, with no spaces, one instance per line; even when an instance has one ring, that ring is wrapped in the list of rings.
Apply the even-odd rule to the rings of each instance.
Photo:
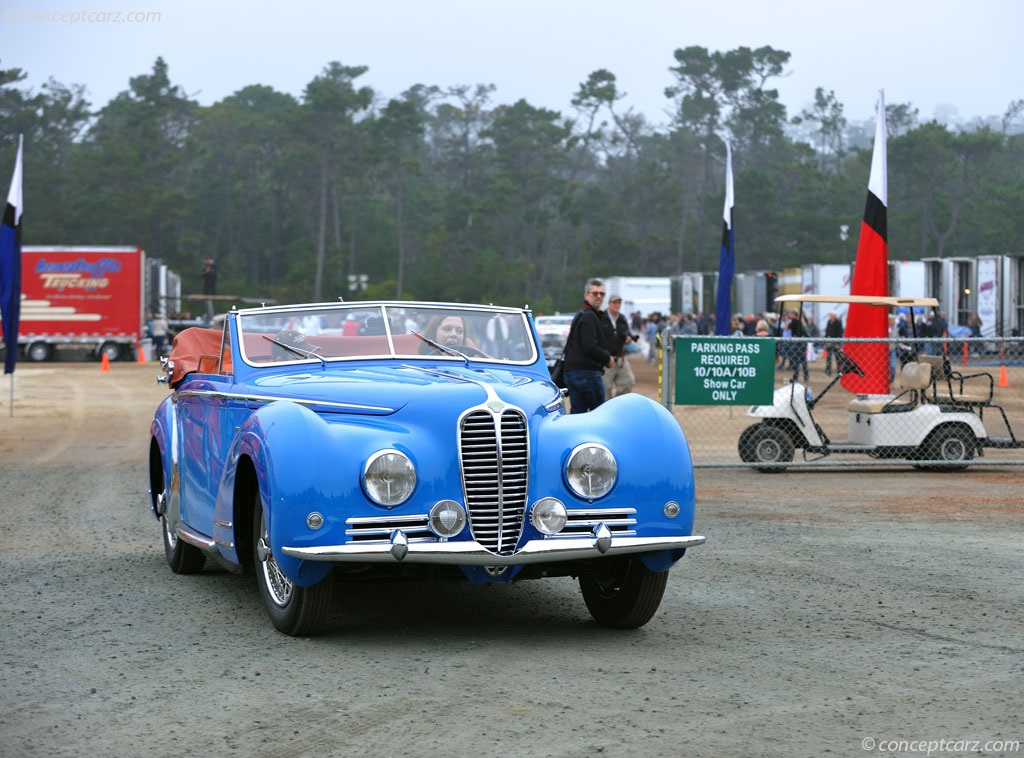
[[[469,408],[485,403],[490,393],[532,412],[560,401],[549,381],[517,371],[464,366],[339,368],[308,373],[271,374],[250,384],[265,401],[292,399],[326,413],[386,415],[411,404]]]

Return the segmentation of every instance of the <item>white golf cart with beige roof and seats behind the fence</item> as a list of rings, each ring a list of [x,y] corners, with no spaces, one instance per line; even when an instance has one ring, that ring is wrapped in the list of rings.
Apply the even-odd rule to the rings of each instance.
[[[864,295],[781,295],[776,302],[864,303],[884,308],[937,307],[934,298],[869,297]],[[914,333],[913,337],[916,337]],[[739,436],[739,457],[763,464],[759,471],[777,472],[803,450],[804,460],[837,454],[902,459],[919,468],[962,469],[985,448],[1024,448],[1010,427],[1002,408],[993,405],[994,382],[987,373],[965,375],[951,369],[944,355],[916,355],[897,372],[896,391],[856,395],[846,408],[845,439],[830,439],[814,419],[814,409],[844,374],[864,371],[838,345],[837,376],[813,397],[796,380],[775,390],[770,406],[752,406],[746,415],[760,421]],[[888,367],[887,367],[888,370]],[[835,405],[835,404],[831,404]],[[1009,437],[990,437],[983,414],[1001,414]]]

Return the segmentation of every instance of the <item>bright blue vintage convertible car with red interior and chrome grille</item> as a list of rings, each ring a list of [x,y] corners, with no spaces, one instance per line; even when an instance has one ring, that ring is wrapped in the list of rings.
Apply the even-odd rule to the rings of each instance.
[[[346,581],[578,577],[601,624],[657,610],[693,530],[679,423],[648,397],[565,411],[529,310],[356,302],[181,332],[153,421],[167,562],[255,574],[311,634]]]

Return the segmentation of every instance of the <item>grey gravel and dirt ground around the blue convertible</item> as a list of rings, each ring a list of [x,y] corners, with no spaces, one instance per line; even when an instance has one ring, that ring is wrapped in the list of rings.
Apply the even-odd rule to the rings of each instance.
[[[168,570],[157,374],[19,366],[13,417],[0,377],[0,756],[1024,752],[1019,469],[698,469],[643,629],[555,579],[351,590],[294,639]]]

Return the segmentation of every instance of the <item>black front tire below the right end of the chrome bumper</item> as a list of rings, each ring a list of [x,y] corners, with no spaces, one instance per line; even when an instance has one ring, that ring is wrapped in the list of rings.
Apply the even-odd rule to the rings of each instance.
[[[580,574],[580,590],[594,621],[612,629],[642,627],[657,612],[669,573],[639,558],[600,558]]]

